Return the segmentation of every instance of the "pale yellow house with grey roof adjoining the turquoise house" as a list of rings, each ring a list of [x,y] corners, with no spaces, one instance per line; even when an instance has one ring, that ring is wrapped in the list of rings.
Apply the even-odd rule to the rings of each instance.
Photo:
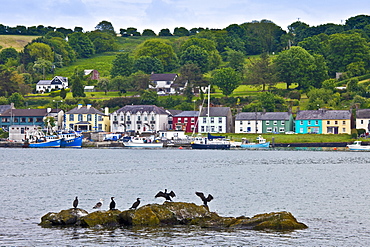
[[[351,111],[324,110],[322,116],[323,134],[351,134]]]

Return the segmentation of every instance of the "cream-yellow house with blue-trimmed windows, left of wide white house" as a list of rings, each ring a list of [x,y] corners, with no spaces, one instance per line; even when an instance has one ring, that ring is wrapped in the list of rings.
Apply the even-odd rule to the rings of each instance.
[[[110,131],[108,107],[101,112],[90,104],[78,105],[65,115],[65,127],[76,131],[95,132]]]

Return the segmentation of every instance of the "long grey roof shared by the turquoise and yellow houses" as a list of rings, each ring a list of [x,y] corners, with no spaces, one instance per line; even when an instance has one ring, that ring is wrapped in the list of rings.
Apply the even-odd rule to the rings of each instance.
[[[296,120],[309,119],[350,119],[349,110],[306,110],[297,112]]]

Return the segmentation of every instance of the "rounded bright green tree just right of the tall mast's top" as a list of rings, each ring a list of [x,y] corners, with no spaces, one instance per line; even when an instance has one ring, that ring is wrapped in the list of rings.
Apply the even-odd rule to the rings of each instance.
[[[240,75],[232,68],[217,69],[212,74],[212,83],[228,96],[240,85]]]

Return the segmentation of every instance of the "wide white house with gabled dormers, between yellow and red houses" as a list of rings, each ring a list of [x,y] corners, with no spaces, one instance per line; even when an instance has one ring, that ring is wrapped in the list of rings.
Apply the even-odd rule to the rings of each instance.
[[[168,127],[168,113],[155,105],[126,105],[111,114],[112,132],[157,132]]]

